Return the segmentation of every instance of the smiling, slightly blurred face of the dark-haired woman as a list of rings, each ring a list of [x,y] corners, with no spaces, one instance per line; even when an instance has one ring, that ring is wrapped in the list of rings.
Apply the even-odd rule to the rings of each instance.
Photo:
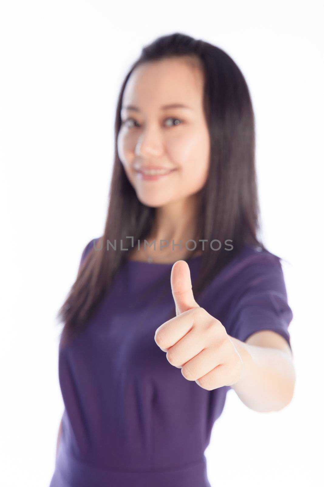
[[[186,200],[205,186],[210,140],[203,82],[198,63],[184,58],[145,63],[127,81],[118,154],[138,199],[146,206]],[[184,107],[164,108],[173,104]],[[153,166],[164,173],[143,174]]]

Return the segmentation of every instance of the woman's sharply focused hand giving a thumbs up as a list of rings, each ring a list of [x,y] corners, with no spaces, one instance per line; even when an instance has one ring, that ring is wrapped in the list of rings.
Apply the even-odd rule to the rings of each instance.
[[[187,380],[212,391],[235,384],[243,361],[222,323],[195,301],[190,269],[177,261],[171,269],[171,290],[176,316],[160,325],[154,340]],[[215,297],[217,299],[217,296]]]

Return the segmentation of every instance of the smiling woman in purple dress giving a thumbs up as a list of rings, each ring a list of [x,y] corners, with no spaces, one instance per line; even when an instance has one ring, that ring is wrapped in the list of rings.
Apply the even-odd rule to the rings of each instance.
[[[51,487],[210,486],[204,451],[227,391],[266,412],[294,388],[238,66],[179,33],[146,46],[120,90],[115,154],[104,233],[59,312]]]

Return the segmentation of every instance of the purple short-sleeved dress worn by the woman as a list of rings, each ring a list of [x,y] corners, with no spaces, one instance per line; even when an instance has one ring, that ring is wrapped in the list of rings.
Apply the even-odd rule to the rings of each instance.
[[[258,250],[241,250],[197,301],[232,337],[273,330],[290,345],[281,263]],[[188,261],[192,282],[200,264]],[[127,260],[85,331],[60,343],[65,410],[50,487],[210,487],[204,452],[230,386],[202,389],[156,345],[174,306],[171,268]]]

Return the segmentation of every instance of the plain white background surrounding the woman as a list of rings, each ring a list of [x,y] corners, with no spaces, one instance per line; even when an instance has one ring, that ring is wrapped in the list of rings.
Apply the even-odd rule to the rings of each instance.
[[[1,486],[50,483],[64,407],[55,315],[85,244],[102,235],[120,84],[143,45],[173,32],[224,49],[248,82],[264,240],[287,261],[294,313],[292,402],[258,413],[229,391],[208,477],[213,487],[321,483],[322,5],[1,2]]]

